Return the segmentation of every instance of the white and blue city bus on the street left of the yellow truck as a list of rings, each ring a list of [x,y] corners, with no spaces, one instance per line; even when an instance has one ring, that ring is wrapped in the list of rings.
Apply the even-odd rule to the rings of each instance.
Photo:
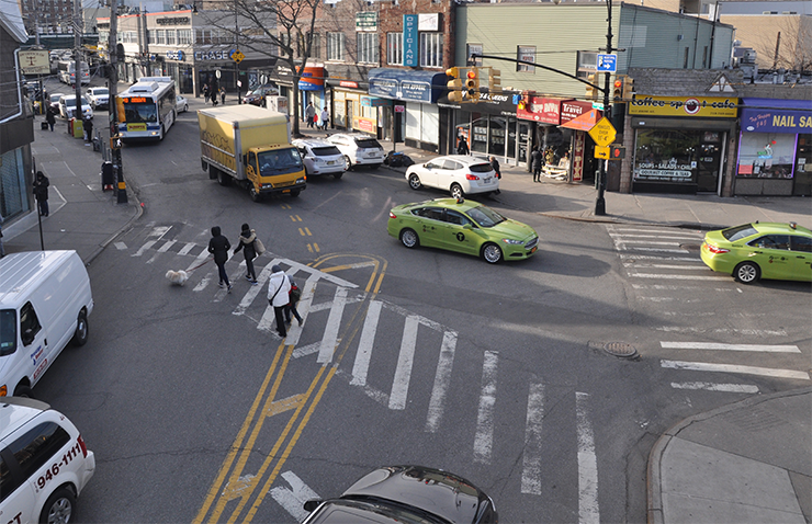
[[[162,140],[174,124],[174,80],[142,77],[115,98],[122,141]]]

